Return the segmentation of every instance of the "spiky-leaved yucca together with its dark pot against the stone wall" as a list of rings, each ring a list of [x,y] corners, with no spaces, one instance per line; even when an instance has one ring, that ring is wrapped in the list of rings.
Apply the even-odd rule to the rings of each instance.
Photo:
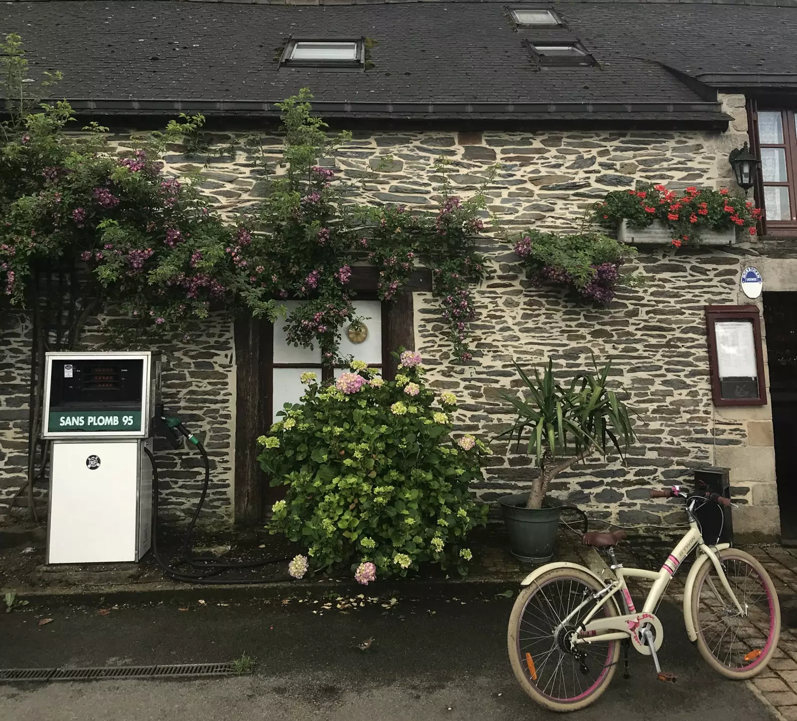
[[[611,363],[595,373],[577,374],[567,387],[556,382],[552,360],[540,376],[535,368],[530,378],[520,366],[527,397],[509,396],[517,418],[499,434],[524,443],[539,469],[528,494],[499,498],[507,526],[512,555],[521,561],[544,562],[553,556],[561,505],[548,498],[548,484],[574,463],[612,448],[625,459],[636,439],[630,408],[607,388]]]

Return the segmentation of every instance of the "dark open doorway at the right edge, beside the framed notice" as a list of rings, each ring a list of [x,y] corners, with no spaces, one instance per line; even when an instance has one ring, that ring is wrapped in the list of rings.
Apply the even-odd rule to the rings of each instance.
[[[765,293],[780,534],[797,546],[797,293]]]

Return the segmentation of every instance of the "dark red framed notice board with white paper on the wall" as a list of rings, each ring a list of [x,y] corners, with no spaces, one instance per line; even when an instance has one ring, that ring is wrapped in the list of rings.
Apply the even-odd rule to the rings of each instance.
[[[756,305],[706,305],[714,405],[766,405],[761,321]]]

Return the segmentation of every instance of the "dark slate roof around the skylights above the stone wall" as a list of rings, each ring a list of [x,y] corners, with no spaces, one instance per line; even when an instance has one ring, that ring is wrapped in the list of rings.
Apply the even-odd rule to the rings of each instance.
[[[530,2],[561,30],[516,30],[499,2],[44,0],[0,5],[35,69],[81,112],[273,115],[309,87],[328,116],[661,120],[721,127],[709,87],[797,87],[797,0]],[[374,66],[281,68],[289,37],[369,37]],[[595,67],[538,69],[527,41],[578,38]],[[673,69],[698,82],[684,81]]]

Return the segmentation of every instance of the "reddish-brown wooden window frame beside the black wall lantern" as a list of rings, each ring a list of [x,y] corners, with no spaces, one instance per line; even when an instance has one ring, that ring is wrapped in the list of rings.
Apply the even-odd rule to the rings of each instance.
[[[758,130],[758,114],[760,112],[780,112],[783,125],[783,143],[761,143]],[[797,234],[797,109],[784,107],[775,100],[748,100],[748,127],[750,147],[757,157],[761,158],[762,148],[783,148],[786,160],[786,181],[764,181],[764,169],[756,172],[754,194],[756,206],[761,209],[760,234],[790,235]],[[787,187],[789,194],[790,220],[771,220],[767,218],[767,207],[764,203],[765,187]]]

